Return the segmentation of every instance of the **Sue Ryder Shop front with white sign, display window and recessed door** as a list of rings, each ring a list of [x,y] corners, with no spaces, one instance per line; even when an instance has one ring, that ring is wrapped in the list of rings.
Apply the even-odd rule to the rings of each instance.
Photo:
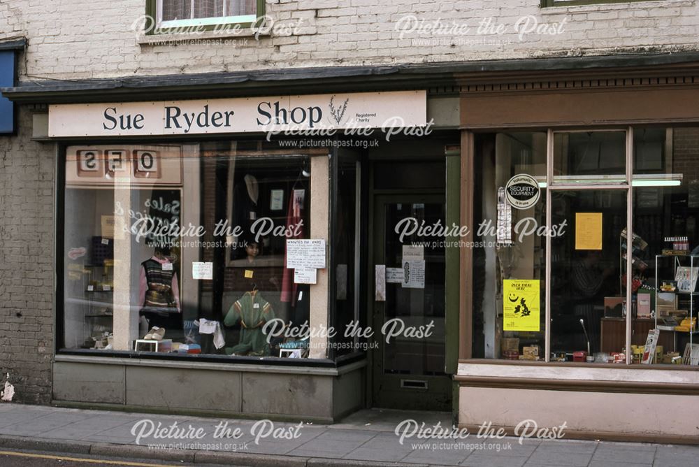
[[[458,254],[396,228],[458,216],[458,100],[437,97],[50,103],[53,402],[325,422],[452,410]]]

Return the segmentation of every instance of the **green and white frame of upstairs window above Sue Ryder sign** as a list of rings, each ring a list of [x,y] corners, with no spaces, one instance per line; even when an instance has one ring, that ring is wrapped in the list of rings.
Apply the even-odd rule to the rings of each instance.
[[[156,34],[156,30],[159,31],[160,34],[168,34],[171,32],[177,33],[181,29],[189,28],[196,31],[215,31],[222,30],[222,26],[226,24],[235,25],[236,29],[248,28],[254,24],[261,27],[263,24],[260,18],[264,18],[265,16],[265,5],[265,0],[256,0],[254,15],[189,18],[186,20],[163,21],[161,20],[162,0],[146,0],[146,17],[150,20],[150,22],[152,22],[152,24],[146,24],[146,34],[154,35]],[[223,30],[225,31],[226,29]]]

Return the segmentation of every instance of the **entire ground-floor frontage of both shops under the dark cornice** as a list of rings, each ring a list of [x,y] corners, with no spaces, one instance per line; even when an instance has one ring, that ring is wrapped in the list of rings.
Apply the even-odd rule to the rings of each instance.
[[[57,149],[53,401],[696,441],[696,60],[5,89]]]

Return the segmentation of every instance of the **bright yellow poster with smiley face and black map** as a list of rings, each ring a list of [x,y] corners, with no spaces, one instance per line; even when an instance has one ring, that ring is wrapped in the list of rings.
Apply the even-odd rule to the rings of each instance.
[[[503,282],[503,329],[540,331],[539,280],[506,279]]]

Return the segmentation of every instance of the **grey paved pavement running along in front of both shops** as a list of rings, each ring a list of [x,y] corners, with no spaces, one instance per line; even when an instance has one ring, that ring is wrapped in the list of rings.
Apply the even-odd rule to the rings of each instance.
[[[519,438],[427,439],[396,426],[451,428],[443,412],[361,410],[336,424],[213,419],[0,404],[0,451],[233,466],[699,466],[699,445]],[[412,422],[411,422],[412,423]],[[411,430],[405,431],[409,433]],[[448,431],[448,430],[447,430]],[[463,434],[463,433],[462,433]],[[699,444],[699,440],[698,440]],[[69,464],[63,464],[69,465]],[[94,464],[92,464],[94,465]]]

